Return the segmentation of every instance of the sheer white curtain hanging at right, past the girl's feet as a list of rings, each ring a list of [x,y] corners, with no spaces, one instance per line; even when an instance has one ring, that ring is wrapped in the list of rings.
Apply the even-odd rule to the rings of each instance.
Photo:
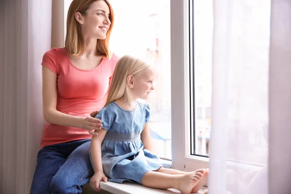
[[[291,193],[291,2],[213,0],[210,194]]]

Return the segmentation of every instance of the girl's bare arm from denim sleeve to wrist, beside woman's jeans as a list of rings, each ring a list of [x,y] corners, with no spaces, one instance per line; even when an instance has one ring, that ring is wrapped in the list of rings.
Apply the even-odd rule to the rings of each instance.
[[[92,161],[92,166],[93,166],[95,174],[98,172],[103,173],[102,157],[101,157],[101,144],[102,144],[102,141],[104,139],[106,132],[107,132],[107,130],[105,130],[103,128],[98,130],[99,135],[93,136],[92,140],[91,140],[90,154],[91,154],[91,161]]]

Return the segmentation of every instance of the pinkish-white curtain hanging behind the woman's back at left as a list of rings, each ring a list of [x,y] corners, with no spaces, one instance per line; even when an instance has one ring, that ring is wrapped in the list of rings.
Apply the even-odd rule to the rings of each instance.
[[[28,194],[44,126],[51,0],[1,0],[0,16],[0,193]]]

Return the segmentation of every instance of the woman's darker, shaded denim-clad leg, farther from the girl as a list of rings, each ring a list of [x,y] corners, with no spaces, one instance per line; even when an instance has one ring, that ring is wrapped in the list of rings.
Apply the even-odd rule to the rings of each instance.
[[[59,168],[65,163],[65,144],[43,147],[37,154],[30,194],[49,194],[49,184]]]

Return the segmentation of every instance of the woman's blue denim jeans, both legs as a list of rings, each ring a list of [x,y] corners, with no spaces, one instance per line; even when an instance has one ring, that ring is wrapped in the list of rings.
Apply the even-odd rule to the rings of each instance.
[[[31,194],[81,194],[94,171],[91,139],[43,147],[37,155]]]

